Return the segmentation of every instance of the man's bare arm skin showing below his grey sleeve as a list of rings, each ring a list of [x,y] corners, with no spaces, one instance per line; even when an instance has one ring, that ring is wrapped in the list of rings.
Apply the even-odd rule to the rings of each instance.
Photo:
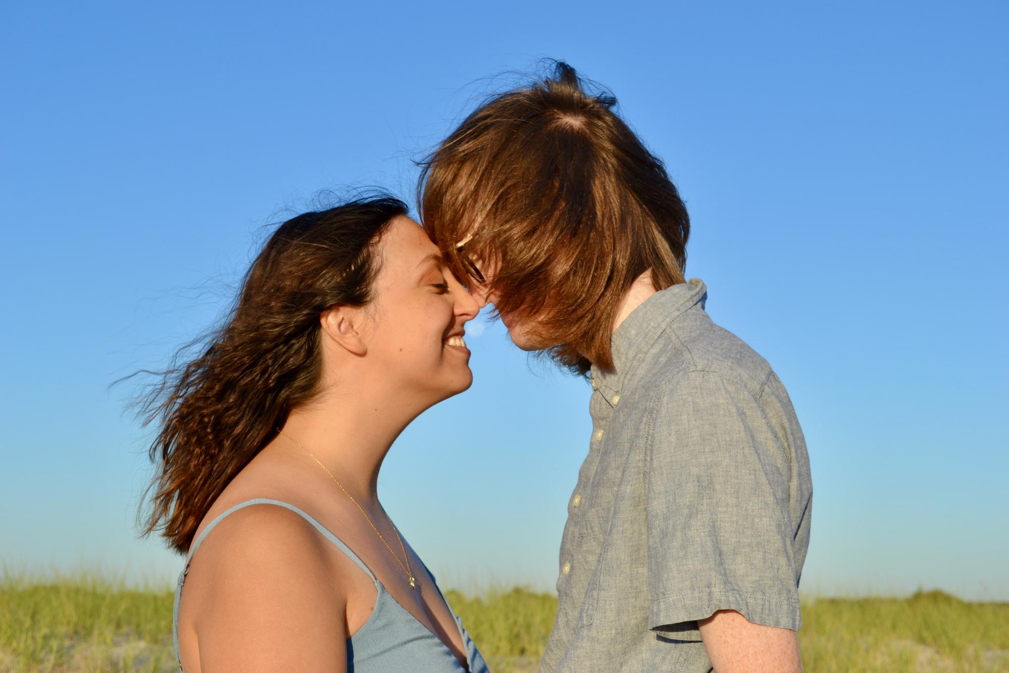
[[[698,620],[697,628],[715,673],[802,673],[791,629],[753,624],[734,609]]]

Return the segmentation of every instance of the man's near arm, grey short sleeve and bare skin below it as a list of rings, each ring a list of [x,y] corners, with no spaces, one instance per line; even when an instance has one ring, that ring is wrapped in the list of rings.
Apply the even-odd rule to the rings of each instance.
[[[656,404],[649,628],[697,629],[718,673],[801,671],[785,440],[758,399],[717,372],[684,374]]]

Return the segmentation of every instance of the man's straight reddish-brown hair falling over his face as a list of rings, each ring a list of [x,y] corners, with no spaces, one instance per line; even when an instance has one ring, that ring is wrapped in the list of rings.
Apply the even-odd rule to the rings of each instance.
[[[591,90],[590,90],[591,89]],[[497,94],[422,162],[424,227],[460,278],[465,253],[500,315],[533,318],[562,366],[613,368],[612,323],[635,278],[683,283],[690,222],[662,161],[613,111],[611,94],[557,62]]]

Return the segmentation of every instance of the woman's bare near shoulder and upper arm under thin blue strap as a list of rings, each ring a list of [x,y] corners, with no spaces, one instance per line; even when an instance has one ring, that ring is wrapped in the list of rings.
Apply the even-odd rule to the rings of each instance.
[[[213,529],[204,527],[210,533],[193,553],[183,594],[201,662],[284,670],[292,657],[343,661],[343,639],[334,634],[345,631],[345,586],[333,581],[312,524],[266,502],[217,517]]]

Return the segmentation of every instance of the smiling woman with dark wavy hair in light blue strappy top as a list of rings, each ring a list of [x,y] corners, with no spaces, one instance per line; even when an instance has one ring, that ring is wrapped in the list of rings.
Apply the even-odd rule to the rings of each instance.
[[[147,401],[146,533],[188,552],[186,673],[486,670],[376,492],[397,436],[472,381],[476,303],[406,213],[381,197],[285,222]]]

